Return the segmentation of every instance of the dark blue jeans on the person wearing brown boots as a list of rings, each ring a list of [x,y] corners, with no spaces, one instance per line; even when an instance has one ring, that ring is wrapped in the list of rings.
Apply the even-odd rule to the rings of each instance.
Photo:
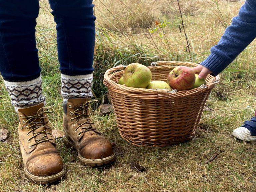
[[[92,73],[96,19],[92,0],[49,3],[57,24],[61,73]],[[38,13],[38,0],[0,0],[0,72],[6,81],[29,81],[40,75],[35,39]]]

